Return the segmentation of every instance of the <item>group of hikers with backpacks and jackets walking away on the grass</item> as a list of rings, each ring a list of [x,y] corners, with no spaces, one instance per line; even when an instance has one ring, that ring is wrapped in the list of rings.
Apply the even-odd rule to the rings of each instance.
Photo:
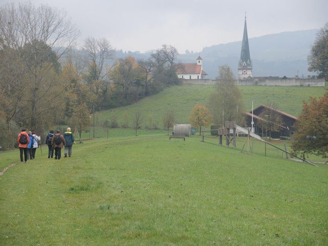
[[[26,133],[26,129],[23,128],[22,132],[18,135],[17,144],[20,149],[21,162],[27,162],[28,159],[35,158],[36,149],[39,147],[38,141],[41,137],[36,134],[35,131]],[[64,135],[60,134],[60,130],[56,131],[54,134],[53,130],[47,134],[46,144],[48,146],[48,158],[53,158],[55,154],[55,159],[59,160],[61,158],[61,150],[65,146],[65,157],[71,156],[72,145],[75,145],[74,135],[70,132],[70,128],[67,128],[67,132]]]

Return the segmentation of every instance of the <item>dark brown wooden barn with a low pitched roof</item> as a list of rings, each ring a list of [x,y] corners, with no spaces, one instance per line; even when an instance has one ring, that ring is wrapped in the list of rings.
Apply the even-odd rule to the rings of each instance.
[[[260,113],[264,110],[264,109],[270,109],[270,110],[274,110],[276,112],[278,112],[281,115],[282,118],[282,125],[280,125],[280,131],[279,132],[272,132],[271,133],[271,137],[272,138],[280,138],[280,136],[290,136],[292,134],[294,134],[294,123],[297,120],[297,117],[283,112],[281,110],[276,110],[276,109],[272,109],[268,106],[265,105],[260,105],[258,106],[256,109],[253,110],[253,120],[254,120],[254,133],[258,134],[260,136],[266,136],[266,131],[265,129],[262,129],[261,127],[258,126],[258,121],[265,121],[265,119],[263,119],[262,117],[260,117]],[[247,122],[247,126],[248,127],[252,127],[252,111],[250,112],[246,112],[246,122]]]

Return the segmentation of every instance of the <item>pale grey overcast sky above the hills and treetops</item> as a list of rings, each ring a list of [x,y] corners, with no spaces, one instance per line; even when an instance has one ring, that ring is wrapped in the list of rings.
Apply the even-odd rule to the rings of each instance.
[[[9,2],[0,0],[1,5]],[[11,1],[12,2],[12,1]],[[18,2],[13,0],[13,2]],[[64,8],[88,36],[113,47],[141,52],[162,44],[179,53],[242,39],[245,11],[248,37],[321,28],[328,0],[32,0]]]

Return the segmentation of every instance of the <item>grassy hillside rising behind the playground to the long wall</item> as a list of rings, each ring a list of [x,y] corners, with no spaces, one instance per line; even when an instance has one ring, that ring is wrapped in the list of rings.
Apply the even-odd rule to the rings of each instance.
[[[252,100],[254,100],[254,107],[266,104],[268,100],[275,100],[279,104],[279,109],[295,116],[301,112],[303,99],[307,100],[309,96],[319,97],[325,93],[325,89],[322,87],[240,86],[239,88],[242,91],[247,111],[252,109]],[[152,115],[158,120],[159,126],[162,126],[162,115],[167,109],[175,111],[178,123],[188,123],[187,117],[192,107],[196,103],[207,105],[212,90],[213,86],[205,85],[170,87],[135,104],[97,113],[99,123],[109,119],[112,114],[117,117],[120,123],[122,122],[124,112],[132,115],[137,109],[141,109],[146,121]]]

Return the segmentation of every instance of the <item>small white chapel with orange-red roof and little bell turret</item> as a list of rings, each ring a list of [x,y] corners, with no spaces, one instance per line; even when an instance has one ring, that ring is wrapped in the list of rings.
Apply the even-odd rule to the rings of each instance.
[[[200,56],[196,63],[180,63],[177,74],[181,79],[203,79],[207,75],[203,70],[203,59]]]

